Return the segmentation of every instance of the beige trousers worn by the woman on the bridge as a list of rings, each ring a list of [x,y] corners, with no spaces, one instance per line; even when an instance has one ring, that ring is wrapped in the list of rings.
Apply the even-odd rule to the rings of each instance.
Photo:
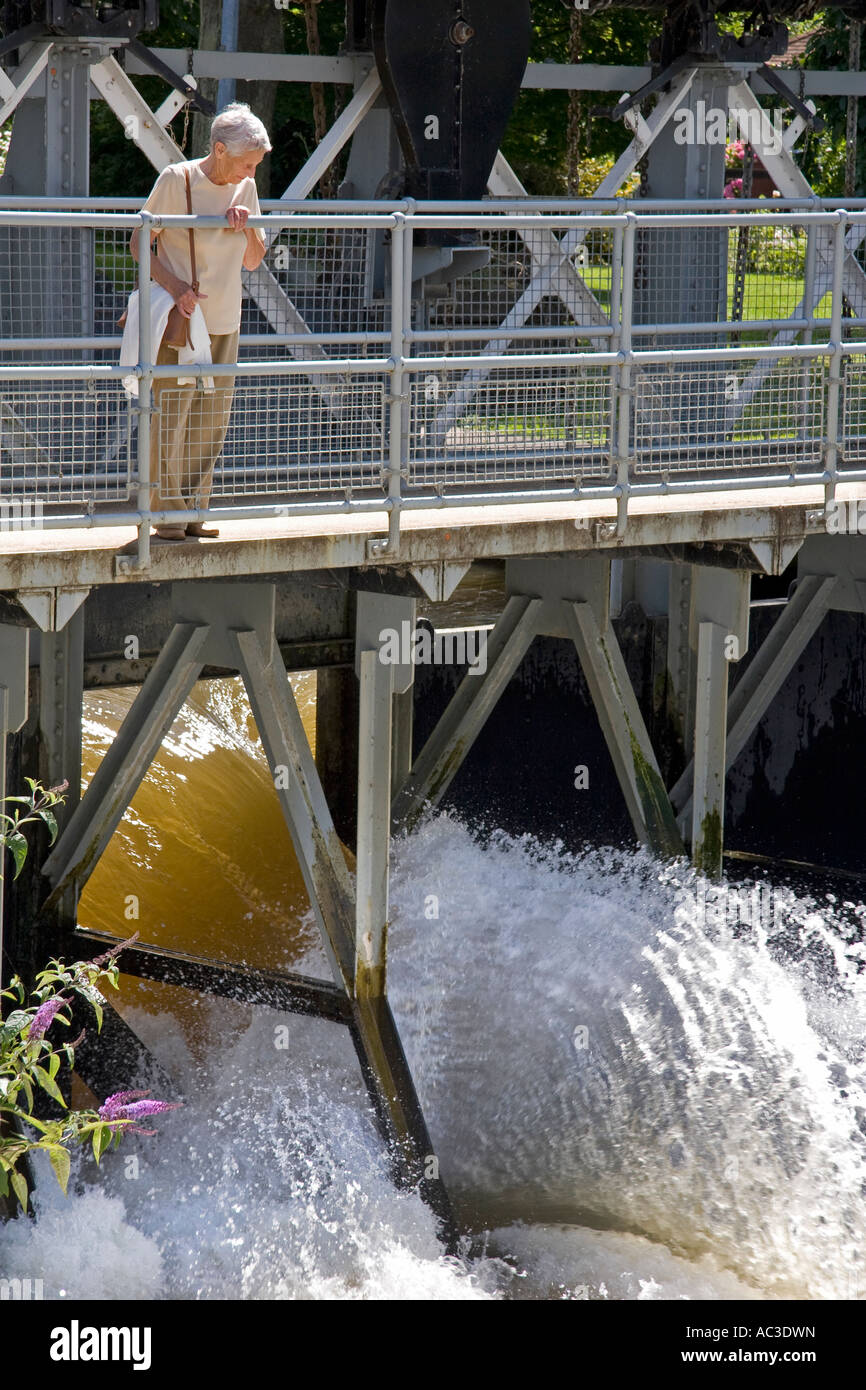
[[[238,360],[238,334],[211,334],[214,363]],[[178,360],[178,349],[160,343],[156,364]],[[178,386],[171,377],[153,382],[150,505],[154,512],[206,507],[232,411],[234,377],[214,375],[213,391]]]

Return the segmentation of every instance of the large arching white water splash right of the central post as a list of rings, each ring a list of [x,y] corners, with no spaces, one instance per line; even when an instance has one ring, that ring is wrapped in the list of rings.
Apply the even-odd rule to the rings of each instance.
[[[777,1297],[866,1295],[862,945],[794,894],[708,922],[699,884],[448,817],[400,847],[392,997],[442,1172],[475,1225],[584,1222]]]

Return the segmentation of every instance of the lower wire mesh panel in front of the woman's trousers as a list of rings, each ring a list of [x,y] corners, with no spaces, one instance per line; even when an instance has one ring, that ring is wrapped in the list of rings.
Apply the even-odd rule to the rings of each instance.
[[[227,409],[228,404],[228,409]],[[234,398],[170,386],[158,396],[152,475],[165,500],[292,498],[382,486],[381,377],[245,377]]]

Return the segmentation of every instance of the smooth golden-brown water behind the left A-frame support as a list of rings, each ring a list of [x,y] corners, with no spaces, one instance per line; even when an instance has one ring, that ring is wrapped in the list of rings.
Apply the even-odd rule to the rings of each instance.
[[[316,674],[292,678],[316,746]],[[83,781],[136,691],[85,698]],[[202,681],[93,872],[83,927],[215,960],[292,969],[317,942],[310,901],[239,677]],[[185,990],[125,977],[122,998],[189,1023]],[[188,1029],[186,1029],[188,1031]]]

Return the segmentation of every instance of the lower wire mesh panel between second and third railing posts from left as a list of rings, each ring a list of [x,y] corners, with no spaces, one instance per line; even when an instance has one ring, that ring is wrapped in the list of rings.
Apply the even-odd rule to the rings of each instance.
[[[609,450],[606,368],[493,368],[480,381],[431,370],[411,379],[410,486],[602,478]]]

